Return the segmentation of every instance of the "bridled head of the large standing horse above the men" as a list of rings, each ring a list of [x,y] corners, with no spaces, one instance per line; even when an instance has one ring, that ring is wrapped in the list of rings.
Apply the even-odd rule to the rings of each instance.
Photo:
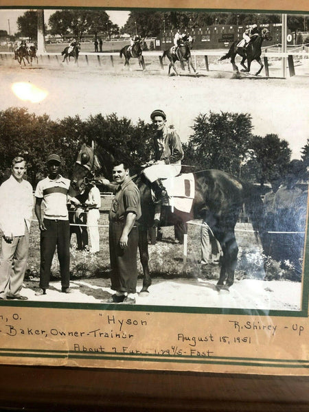
[[[75,192],[80,191],[80,185],[82,183],[87,184],[87,179],[93,176],[94,168],[95,155],[93,149],[87,146],[87,144],[83,144],[78,152],[71,179],[71,188]]]

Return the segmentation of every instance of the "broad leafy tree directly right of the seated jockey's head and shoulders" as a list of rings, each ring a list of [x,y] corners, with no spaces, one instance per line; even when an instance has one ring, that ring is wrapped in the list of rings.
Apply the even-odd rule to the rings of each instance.
[[[184,163],[239,176],[251,141],[251,116],[209,112],[198,115],[192,129]]]

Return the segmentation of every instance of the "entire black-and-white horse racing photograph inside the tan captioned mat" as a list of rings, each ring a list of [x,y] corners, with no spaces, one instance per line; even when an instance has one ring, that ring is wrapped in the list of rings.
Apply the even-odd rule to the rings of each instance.
[[[308,14],[2,8],[0,73],[2,306],[304,310]]]

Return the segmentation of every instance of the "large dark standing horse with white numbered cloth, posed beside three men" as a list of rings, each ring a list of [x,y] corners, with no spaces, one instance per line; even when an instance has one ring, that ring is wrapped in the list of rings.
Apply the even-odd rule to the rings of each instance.
[[[108,152],[102,146],[93,150],[83,145],[78,155],[79,159],[84,157],[84,162],[78,161],[73,169],[71,187],[79,190],[84,178],[94,168],[95,156],[99,158],[105,168],[112,170],[113,159],[118,157],[124,159],[121,154]],[[119,156],[120,155],[120,156]],[[109,173],[110,174],[110,173]],[[139,255],[143,266],[144,279],[140,293],[148,293],[151,277],[148,267],[148,228],[153,226],[155,205],[152,201],[150,185],[144,179],[143,174],[137,174],[133,178],[141,194],[141,218],[139,220]],[[263,203],[258,188],[249,183],[243,183],[229,174],[220,170],[203,170],[194,173],[195,197],[190,214],[172,214],[170,207],[165,209],[165,216],[159,225],[171,226],[180,220],[182,222],[192,218],[203,219],[207,222],[214,237],[220,242],[222,249],[222,266],[220,278],[216,288],[229,290],[233,284],[234,272],[237,264],[238,246],[235,237],[235,226],[242,209],[245,205],[247,214],[251,218],[253,229],[262,229]],[[162,215],[162,214],[161,214]]]

